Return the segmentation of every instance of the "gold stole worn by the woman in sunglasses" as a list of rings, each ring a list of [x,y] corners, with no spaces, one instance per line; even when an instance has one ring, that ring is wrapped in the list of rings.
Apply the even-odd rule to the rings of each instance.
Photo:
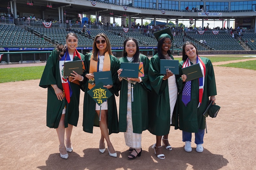
[[[91,56],[91,61],[90,61],[90,69],[89,73],[97,72],[97,67],[98,67],[98,62],[93,60],[93,57]],[[103,70],[102,71],[110,71],[110,57],[108,52],[104,54],[104,63],[103,63]],[[88,88],[91,90],[95,86],[95,83],[92,85],[88,83]]]

